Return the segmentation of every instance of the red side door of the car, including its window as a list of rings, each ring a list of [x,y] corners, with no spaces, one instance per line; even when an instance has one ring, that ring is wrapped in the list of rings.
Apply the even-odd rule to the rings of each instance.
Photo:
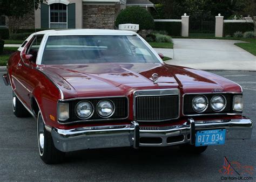
[[[35,68],[36,58],[39,46],[43,35],[33,37],[31,44],[26,48],[25,54],[30,57],[29,60],[21,59],[17,64],[17,68],[14,74],[14,82],[16,86],[16,92],[19,99],[30,109],[31,108],[31,96],[33,89],[36,87]]]

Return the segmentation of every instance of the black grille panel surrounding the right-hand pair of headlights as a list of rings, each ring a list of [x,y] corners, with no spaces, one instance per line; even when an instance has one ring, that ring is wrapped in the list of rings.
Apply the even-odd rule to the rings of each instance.
[[[198,94],[200,95],[200,94]],[[192,108],[192,100],[194,99],[195,96],[197,96],[197,94],[191,94],[191,95],[185,95],[184,96],[184,102],[183,102],[183,113],[185,115],[193,115],[193,114],[215,114],[215,113],[234,113],[233,109],[232,109],[232,104],[233,104],[233,94],[220,94],[223,95],[224,97],[226,97],[226,107],[223,111],[220,112],[216,112],[211,108],[210,102],[211,99],[214,95],[218,95],[218,94],[201,94],[201,95],[205,95],[208,99],[208,108],[203,112],[203,113],[197,113],[196,111],[193,110]]]

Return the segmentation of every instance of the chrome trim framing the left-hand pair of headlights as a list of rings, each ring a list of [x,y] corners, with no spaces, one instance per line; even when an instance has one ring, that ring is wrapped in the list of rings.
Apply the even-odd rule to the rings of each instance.
[[[58,106],[58,103],[59,102],[68,102],[68,101],[74,101],[74,100],[84,100],[86,101],[87,99],[103,99],[103,100],[106,100],[107,99],[111,99],[111,98],[119,98],[119,97],[124,97],[127,99],[127,116],[124,117],[124,118],[102,118],[102,119],[99,119],[99,120],[78,120],[78,121],[72,121],[72,122],[67,122],[67,123],[63,123],[63,122],[60,122],[58,120],[58,123],[59,124],[72,124],[72,123],[80,123],[80,122],[98,122],[98,121],[116,121],[116,120],[126,120],[128,117],[129,117],[129,106],[130,106],[130,102],[129,102],[129,98],[128,96],[123,96],[123,95],[120,95],[120,96],[108,96],[108,97],[77,97],[77,98],[72,98],[72,99],[59,99],[58,102],[57,102],[57,106]],[[58,107],[57,107],[58,109]],[[57,114],[58,114],[58,110],[57,110]],[[100,116],[101,117],[101,116]]]

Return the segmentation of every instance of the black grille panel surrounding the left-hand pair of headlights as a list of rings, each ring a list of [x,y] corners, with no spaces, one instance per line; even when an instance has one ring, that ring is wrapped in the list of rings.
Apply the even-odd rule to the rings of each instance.
[[[114,114],[109,118],[102,118],[97,113],[97,104],[101,100],[111,100],[116,107]],[[69,101],[69,120],[64,121],[65,123],[74,122],[74,121],[81,121],[79,117],[76,115],[76,105],[80,101],[90,101],[95,109],[93,115],[84,121],[97,121],[97,120],[117,120],[117,119],[124,119],[128,117],[128,99],[127,97],[111,97],[111,98],[97,98],[97,99],[83,99],[83,100],[72,100]]]

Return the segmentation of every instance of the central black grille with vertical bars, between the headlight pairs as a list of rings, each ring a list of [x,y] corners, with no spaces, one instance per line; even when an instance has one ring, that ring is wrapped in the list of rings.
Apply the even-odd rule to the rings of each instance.
[[[179,116],[178,95],[137,96],[135,102],[137,121],[164,121]]]

